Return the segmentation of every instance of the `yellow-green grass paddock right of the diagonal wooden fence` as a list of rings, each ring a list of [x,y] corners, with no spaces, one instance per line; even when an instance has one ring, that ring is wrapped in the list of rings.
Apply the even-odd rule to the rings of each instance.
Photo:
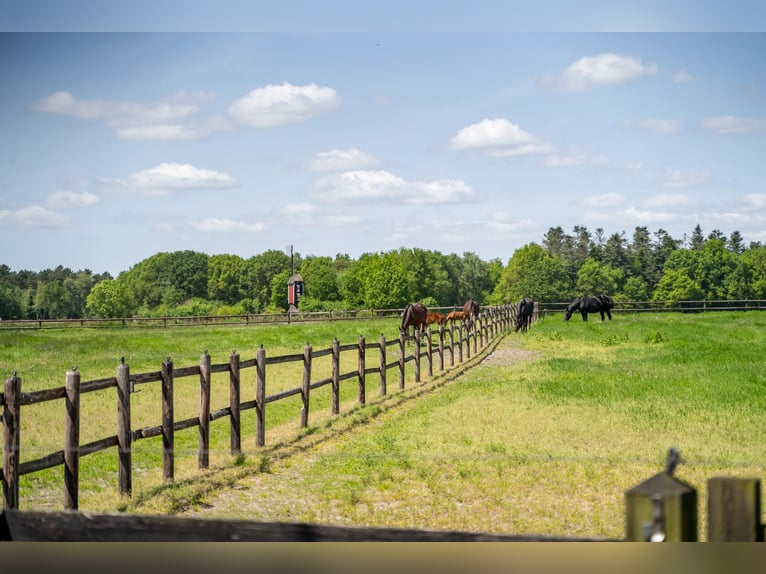
[[[593,319],[510,334],[491,360],[363,409],[349,432],[188,514],[622,538],[625,491],[676,446],[704,540],[707,480],[766,476],[766,314]]]

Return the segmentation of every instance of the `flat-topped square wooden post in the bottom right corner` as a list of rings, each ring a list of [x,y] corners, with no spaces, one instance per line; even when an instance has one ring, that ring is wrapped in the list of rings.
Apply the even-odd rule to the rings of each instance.
[[[761,479],[708,479],[708,542],[763,542]]]

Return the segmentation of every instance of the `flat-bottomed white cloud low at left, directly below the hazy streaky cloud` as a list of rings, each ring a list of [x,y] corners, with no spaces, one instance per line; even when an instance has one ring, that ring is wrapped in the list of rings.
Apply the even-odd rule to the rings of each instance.
[[[220,171],[202,169],[188,163],[161,163],[132,173],[127,185],[131,191],[165,194],[188,189],[227,188],[236,183],[232,176]]]

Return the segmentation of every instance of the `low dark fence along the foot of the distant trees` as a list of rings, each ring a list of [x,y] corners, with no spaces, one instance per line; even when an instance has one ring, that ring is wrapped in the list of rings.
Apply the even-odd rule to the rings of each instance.
[[[540,315],[545,317],[563,312],[571,301],[540,302]],[[460,309],[457,305],[429,307],[429,311],[447,313]],[[766,299],[700,300],[700,301],[615,301],[614,311],[645,312],[703,312],[703,311],[758,311],[766,309]],[[283,313],[247,313],[241,315],[199,315],[194,317],[117,317],[111,319],[0,319],[2,329],[56,329],[56,328],[168,328],[214,327],[221,325],[268,325],[275,323],[303,323],[314,321],[354,321],[399,317],[401,309],[358,309],[336,311],[299,311]]]

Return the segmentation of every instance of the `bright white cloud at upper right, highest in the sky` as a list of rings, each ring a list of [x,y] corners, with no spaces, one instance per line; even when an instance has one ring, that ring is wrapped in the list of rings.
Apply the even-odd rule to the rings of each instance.
[[[572,63],[564,70],[560,83],[565,91],[575,92],[621,84],[656,73],[656,64],[644,65],[641,60],[619,54],[599,54]]]

